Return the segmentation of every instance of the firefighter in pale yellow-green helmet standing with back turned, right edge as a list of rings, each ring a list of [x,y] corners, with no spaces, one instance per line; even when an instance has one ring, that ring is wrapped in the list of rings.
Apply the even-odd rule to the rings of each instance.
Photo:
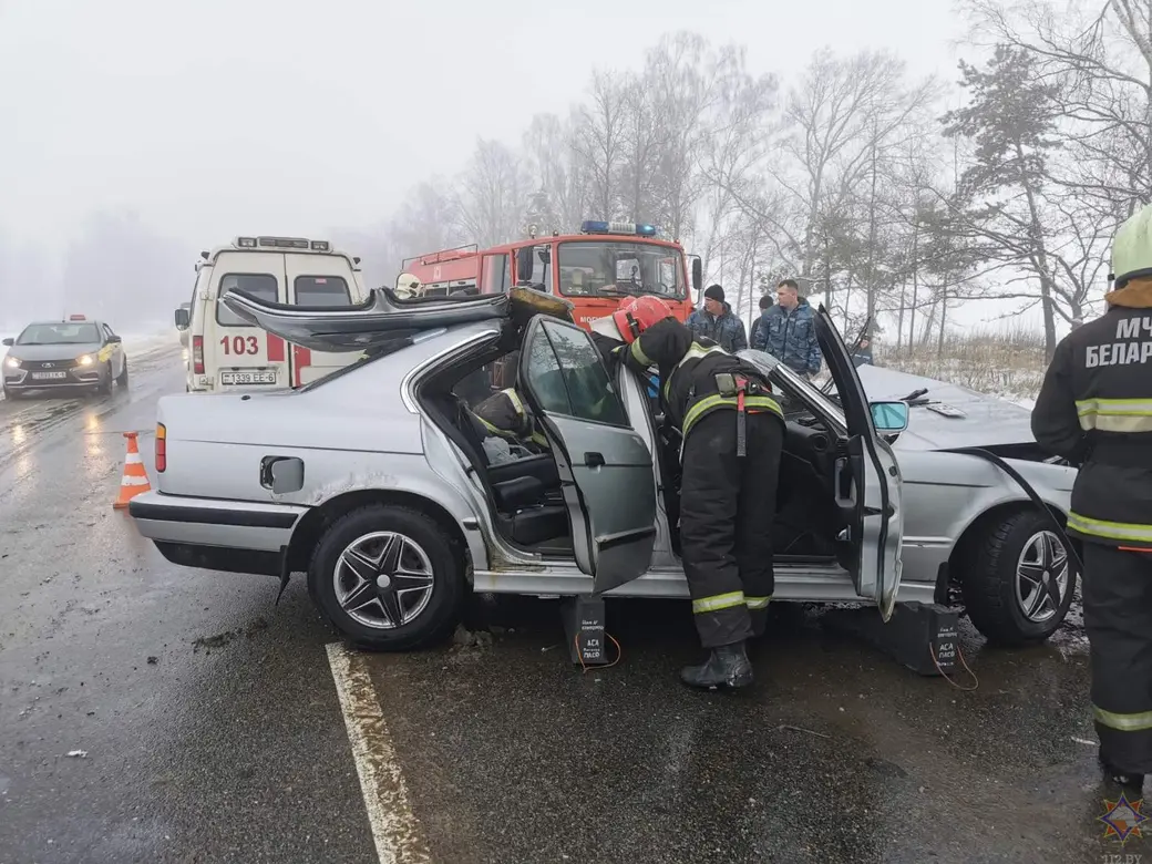
[[[1084,551],[1084,624],[1100,764],[1138,790],[1152,772],[1152,206],[1112,248],[1106,313],[1059,346],[1032,433],[1079,465],[1068,532]]]

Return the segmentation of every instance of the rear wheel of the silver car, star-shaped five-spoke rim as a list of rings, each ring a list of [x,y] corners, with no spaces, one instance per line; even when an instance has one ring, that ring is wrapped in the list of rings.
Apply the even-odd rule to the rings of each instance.
[[[457,543],[422,513],[370,505],[320,537],[308,588],[354,644],[406,651],[455,628],[467,599]]]

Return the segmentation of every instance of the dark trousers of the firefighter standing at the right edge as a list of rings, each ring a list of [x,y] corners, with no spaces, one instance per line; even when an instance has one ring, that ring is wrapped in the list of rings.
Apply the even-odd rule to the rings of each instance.
[[[1082,594],[1100,755],[1152,774],[1152,552],[1085,543]]]

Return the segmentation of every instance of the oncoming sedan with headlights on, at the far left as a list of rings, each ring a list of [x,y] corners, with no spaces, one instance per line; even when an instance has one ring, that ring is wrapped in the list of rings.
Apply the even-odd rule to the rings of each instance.
[[[114,381],[128,385],[121,339],[104,321],[82,314],[67,321],[37,321],[3,344],[8,348],[2,365],[5,399],[56,387],[108,394]]]

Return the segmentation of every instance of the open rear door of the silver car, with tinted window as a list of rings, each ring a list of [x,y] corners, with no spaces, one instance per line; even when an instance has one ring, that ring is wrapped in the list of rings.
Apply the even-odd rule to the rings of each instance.
[[[517,380],[560,469],[576,563],[592,577],[593,593],[642,576],[657,536],[652,456],[591,336],[537,316],[524,334]]]

